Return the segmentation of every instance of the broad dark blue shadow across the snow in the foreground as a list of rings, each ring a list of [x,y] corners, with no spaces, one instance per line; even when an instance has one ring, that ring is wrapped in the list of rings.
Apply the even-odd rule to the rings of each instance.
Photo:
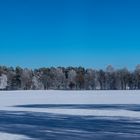
[[[139,122],[124,118],[0,111],[0,132],[39,140],[137,140],[139,130]]]

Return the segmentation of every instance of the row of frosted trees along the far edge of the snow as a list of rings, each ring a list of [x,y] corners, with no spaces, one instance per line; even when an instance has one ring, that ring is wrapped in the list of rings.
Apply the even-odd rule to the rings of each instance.
[[[140,65],[134,71],[127,68],[106,70],[83,67],[51,67],[22,69],[0,66],[1,90],[138,90]]]

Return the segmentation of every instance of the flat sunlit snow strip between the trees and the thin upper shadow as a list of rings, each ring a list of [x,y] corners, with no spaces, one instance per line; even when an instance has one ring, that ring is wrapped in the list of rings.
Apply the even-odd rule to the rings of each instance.
[[[0,91],[0,106],[44,103],[140,104],[140,91]]]

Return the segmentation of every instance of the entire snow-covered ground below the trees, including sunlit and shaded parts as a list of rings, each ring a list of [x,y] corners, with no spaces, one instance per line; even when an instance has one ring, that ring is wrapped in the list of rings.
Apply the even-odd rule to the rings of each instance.
[[[139,140],[140,91],[1,91],[0,140]]]

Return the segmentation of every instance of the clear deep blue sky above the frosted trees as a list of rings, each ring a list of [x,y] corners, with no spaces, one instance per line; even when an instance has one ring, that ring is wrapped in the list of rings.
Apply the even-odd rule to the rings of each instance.
[[[0,0],[0,64],[132,69],[139,0]]]

